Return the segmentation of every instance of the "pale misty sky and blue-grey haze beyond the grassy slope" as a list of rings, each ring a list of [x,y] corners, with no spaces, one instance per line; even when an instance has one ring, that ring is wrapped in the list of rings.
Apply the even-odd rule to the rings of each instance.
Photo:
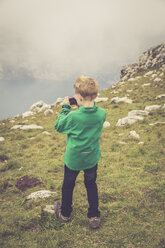
[[[165,42],[164,0],[0,0],[0,119],[72,96],[80,75],[100,89]]]

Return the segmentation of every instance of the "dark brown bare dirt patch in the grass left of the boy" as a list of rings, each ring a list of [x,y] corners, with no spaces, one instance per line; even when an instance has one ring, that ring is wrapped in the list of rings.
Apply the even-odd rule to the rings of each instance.
[[[44,184],[35,177],[24,176],[17,180],[16,187],[21,191],[26,191],[29,188],[36,187],[38,185],[44,186]]]

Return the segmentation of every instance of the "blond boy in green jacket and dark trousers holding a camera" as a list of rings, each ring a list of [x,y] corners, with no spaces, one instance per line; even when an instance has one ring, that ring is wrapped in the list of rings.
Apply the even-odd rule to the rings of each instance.
[[[55,213],[61,222],[70,220],[76,177],[83,170],[89,203],[87,217],[90,226],[98,228],[100,211],[96,177],[97,163],[101,156],[99,137],[103,131],[106,112],[94,101],[98,94],[98,83],[94,79],[80,76],[74,84],[74,89],[78,110],[71,111],[69,97],[66,97],[55,124],[58,132],[67,134],[62,204],[60,205],[59,201],[55,203]]]

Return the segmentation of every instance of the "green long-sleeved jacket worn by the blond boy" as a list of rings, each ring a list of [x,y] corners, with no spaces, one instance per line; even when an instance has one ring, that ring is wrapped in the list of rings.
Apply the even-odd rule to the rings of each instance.
[[[98,163],[101,156],[99,137],[105,119],[105,110],[96,102],[93,107],[80,106],[76,111],[62,109],[54,128],[59,133],[67,134],[64,161],[69,169],[85,170]]]

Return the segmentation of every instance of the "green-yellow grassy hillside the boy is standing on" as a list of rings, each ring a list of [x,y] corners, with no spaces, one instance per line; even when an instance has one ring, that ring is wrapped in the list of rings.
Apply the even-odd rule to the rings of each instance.
[[[66,136],[54,130],[61,106],[54,107],[54,115],[49,117],[40,113],[13,118],[14,123],[11,119],[0,122],[0,137],[5,138],[0,142],[0,247],[165,247],[165,124],[149,125],[165,122],[165,109],[152,111],[142,122],[116,127],[118,119],[131,110],[165,103],[163,98],[155,99],[165,94],[165,75],[160,76],[163,81],[159,83],[144,73],[137,76],[141,78],[100,91],[100,97],[109,98],[98,106],[107,111],[111,127],[104,129],[100,140],[97,184],[102,224],[98,230],[88,226],[83,172],[77,178],[70,223],[60,224],[54,215],[43,211],[61,197]],[[151,84],[143,86],[146,83]],[[114,90],[119,93],[114,94]],[[132,104],[110,101],[127,95]],[[44,129],[11,130],[16,124],[37,124]],[[129,136],[131,130],[140,140]],[[23,176],[35,177],[42,185],[21,191],[16,185]],[[26,200],[40,189],[55,191],[56,195]]]

